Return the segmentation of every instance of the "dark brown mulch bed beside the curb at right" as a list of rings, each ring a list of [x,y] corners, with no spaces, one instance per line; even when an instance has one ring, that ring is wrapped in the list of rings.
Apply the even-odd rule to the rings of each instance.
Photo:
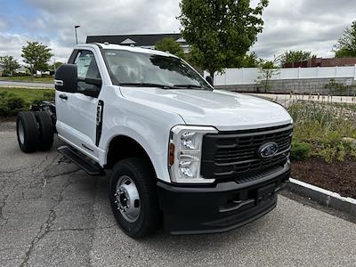
[[[343,197],[356,198],[356,162],[351,159],[330,164],[321,158],[292,162],[291,176]]]

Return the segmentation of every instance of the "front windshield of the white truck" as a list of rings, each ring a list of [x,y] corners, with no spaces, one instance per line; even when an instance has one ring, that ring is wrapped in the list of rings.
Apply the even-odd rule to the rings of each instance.
[[[123,50],[104,50],[104,57],[114,85],[212,90],[179,58]]]

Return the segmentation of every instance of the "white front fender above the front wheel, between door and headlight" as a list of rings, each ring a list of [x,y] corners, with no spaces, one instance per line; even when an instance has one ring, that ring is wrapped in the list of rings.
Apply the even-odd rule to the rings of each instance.
[[[169,133],[174,125],[185,124],[178,114],[155,109],[137,101],[124,98],[118,87],[107,90],[101,140],[99,142],[99,164],[107,164],[109,144],[119,135],[130,137],[139,143],[149,156],[159,180],[171,182],[167,151]]]

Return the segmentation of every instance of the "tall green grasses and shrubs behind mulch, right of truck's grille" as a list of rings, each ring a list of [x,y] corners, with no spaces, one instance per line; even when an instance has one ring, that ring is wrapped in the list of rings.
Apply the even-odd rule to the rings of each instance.
[[[327,162],[356,160],[356,149],[342,142],[344,137],[356,139],[356,120],[350,111],[354,112],[352,106],[346,109],[331,103],[293,103],[289,108],[295,121],[292,158],[303,160],[303,155],[299,155],[303,154],[300,143],[307,143],[311,146],[309,157]]]

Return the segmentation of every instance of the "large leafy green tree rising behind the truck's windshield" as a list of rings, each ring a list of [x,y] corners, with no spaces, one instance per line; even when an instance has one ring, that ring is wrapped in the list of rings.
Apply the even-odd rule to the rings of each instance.
[[[182,0],[182,36],[190,57],[211,77],[224,68],[241,67],[244,56],[263,30],[261,18],[268,0],[254,7],[250,0]]]

